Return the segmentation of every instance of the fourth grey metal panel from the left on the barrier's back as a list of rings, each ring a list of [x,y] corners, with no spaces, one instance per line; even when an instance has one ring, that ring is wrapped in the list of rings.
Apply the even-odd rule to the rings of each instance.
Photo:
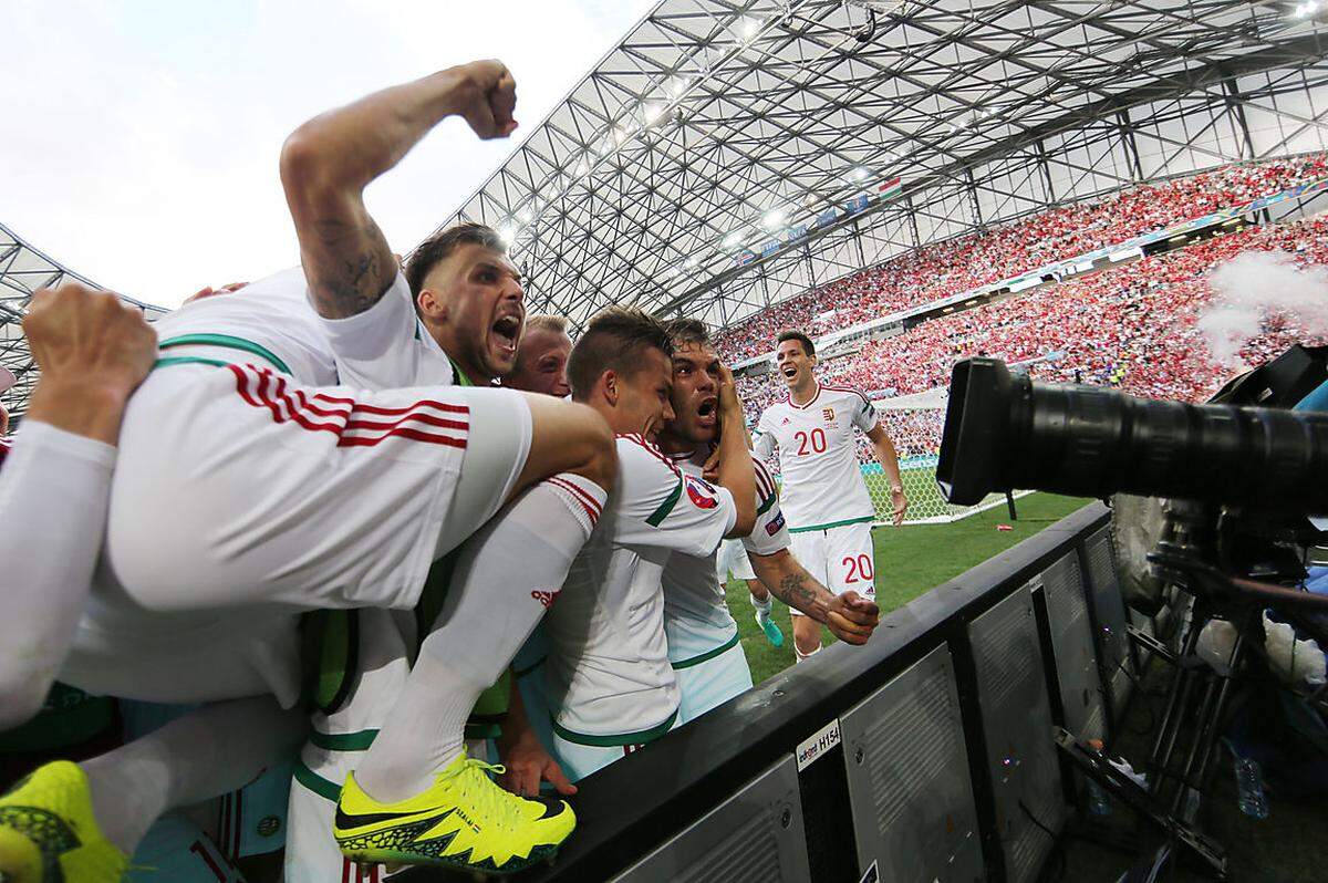
[[[1106,738],[1102,713],[1102,680],[1093,648],[1093,623],[1088,615],[1078,556],[1072,551],[1042,571],[1040,584],[1046,598],[1056,680],[1065,709],[1065,728],[1080,738]]]

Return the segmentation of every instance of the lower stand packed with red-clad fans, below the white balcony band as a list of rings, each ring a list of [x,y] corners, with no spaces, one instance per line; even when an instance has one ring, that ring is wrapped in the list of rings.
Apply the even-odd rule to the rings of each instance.
[[[1283,251],[1299,266],[1328,264],[1328,219],[1250,227],[924,321],[829,361],[821,380],[910,394],[944,386],[956,360],[985,355],[1029,362],[1037,380],[1078,380],[1150,398],[1203,401],[1239,370],[1212,356],[1198,328],[1214,299],[1207,274],[1247,251]],[[1293,343],[1317,340],[1303,321],[1274,311],[1262,316],[1238,359],[1259,365]],[[742,381],[749,416],[784,393],[777,374]],[[911,453],[934,453],[932,442],[939,437]]]

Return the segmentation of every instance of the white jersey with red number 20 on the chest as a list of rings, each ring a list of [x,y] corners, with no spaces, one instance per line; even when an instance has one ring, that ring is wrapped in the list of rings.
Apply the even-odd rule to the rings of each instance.
[[[853,430],[867,433],[878,424],[867,397],[843,386],[818,385],[806,405],[785,397],[765,409],[753,441],[761,457],[780,450],[780,502],[790,530],[819,530],[875,517]]]

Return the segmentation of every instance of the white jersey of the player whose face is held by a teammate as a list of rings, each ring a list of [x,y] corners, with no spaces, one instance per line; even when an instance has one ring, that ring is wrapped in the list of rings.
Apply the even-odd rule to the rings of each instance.
[[[685,475],[701,477],[708,449],[676,454],[673,462]],[[742,544],[754,555],[773,555],[789,547],[789,531],[780,511],[774,479],[756,457],[756,527]],[[664,566],[664,635],[671,663],[684,663],[709,653],[733,640],[737,623],[724,600],[724,586],[716,576],[717,550],[709,555],[675,552]]]

